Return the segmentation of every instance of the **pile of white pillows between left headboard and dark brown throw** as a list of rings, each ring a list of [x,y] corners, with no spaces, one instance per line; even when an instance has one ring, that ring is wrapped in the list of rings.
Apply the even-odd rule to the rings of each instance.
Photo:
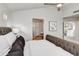
[[[5,56],[8,54],[15,40],[16,35],[13,32],[0,36],[0,56]]]

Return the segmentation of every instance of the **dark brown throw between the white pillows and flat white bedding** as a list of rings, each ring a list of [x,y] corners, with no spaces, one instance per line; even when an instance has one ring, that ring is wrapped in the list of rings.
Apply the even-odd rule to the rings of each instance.
[[[12,45],[12,49],[7,56],[23,56],[24,55],[25,40],[22,36],[18,37]]]

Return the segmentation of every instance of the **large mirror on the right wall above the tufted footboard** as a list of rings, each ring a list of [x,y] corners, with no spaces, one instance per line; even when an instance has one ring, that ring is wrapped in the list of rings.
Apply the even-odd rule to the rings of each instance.
[[[64,39],[79,41],[79,18],[64,19]]]

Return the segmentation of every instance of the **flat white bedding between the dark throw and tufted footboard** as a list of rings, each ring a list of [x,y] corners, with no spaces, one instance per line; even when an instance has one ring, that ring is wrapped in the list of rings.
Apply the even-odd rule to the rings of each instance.
[[[26,42],[24,56],[73,56],[47,40]]]

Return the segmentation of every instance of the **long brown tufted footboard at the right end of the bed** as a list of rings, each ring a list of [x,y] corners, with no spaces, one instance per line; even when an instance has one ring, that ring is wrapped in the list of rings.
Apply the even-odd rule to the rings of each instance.
[[[79,56],[79,44],[73,43],[64,39],[60,39],[51,35],[46,36],[46,40],[54,43],[55,45],[63,48],[75,56]]]

